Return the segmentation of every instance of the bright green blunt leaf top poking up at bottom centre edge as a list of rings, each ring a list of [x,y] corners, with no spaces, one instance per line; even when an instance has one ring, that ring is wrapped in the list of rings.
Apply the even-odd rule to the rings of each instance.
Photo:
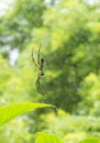
[[[64,143],[56,134],[38,133],[35,143]]]

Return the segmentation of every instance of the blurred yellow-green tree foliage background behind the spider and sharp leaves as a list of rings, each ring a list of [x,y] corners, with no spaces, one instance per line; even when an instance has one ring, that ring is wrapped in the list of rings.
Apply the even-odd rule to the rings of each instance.
[[[2,2],[2,0],[0,0]],[[42,44],[44,77],[35,87]],[[65,143],[100,138],[100,2],[93,0],[13,0],[0,9],[0,107],[46,102],[0,127],[0,143],[33,143],[36,132]]]

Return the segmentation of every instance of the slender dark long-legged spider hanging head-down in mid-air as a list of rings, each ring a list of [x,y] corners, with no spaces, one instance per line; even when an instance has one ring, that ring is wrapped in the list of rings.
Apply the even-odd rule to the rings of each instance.
[[[43,92],[41,90],[41,82],[40,82],[40,80],[41,80],[42,76],[44,76],[44,72],[43,72],[44,58],[41,58],[40,53],[41,53],[41,45],[40,45],[38,51],[37,51],[37,63],[35,63],[34,57],[33,57],[33,50],[32,50],[32,61],[33,61],[34,65],[40,70],[35,85],[36,85],[36,89],[37,89],[38,94],[43,95]]]

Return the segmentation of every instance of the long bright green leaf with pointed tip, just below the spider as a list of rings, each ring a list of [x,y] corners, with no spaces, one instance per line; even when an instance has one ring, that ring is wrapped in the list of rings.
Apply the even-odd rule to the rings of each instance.
[[[0,108],[0,125],[14,119],[18,116],[32,111],[35,108],[44,108],[44,107],[53,107],[53,106],[46,103],[22,102],[2,107]]]

